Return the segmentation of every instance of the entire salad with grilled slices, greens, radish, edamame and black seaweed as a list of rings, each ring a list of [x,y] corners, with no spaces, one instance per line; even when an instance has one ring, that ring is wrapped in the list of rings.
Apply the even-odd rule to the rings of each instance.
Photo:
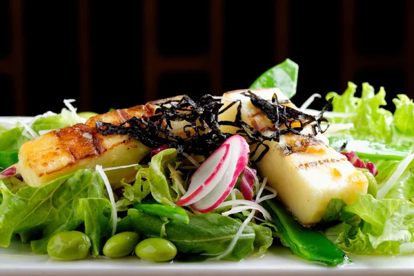
[[[412,253],[413,100],[397,95],[392,113],[384,88],[362,83],[356,97],[349,82],[296,107],[297,77],[286,59],[223,97],[104,115],[65,100],[59,114],[1,119],[0,246],[152,262],[237,262],[284,246],[324,266]]]

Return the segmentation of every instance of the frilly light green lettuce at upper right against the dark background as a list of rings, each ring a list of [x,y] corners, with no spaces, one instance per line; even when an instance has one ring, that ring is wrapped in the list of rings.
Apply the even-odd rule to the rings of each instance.
[[[355,97],[357,86],[348,82],[348,88],[342,95],[329,92],[326,99],[333,97],[333,118],[331,123],[353,123],[354,128],[335,132],[337,137],[349,137],[375,141],[414,149],[414,103],[406,95],[397,95],[393,99],[395,112],[383,108],[386,106],[386,92],[383,87],[375,93],[373,86],[362,83],[361,97]],[[335,112],[346,112],[349,116],[335,117]],[[331,136],[333,136],[331,135]]]

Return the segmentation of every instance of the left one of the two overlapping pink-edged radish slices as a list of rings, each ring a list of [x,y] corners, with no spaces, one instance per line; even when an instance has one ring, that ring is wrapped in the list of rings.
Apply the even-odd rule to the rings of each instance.
[[[226,174],[230,159],[230,145],[224,143],[197,168],[190,178],[187,193],[177,200],[177,205],[193,204],[210,193]]]

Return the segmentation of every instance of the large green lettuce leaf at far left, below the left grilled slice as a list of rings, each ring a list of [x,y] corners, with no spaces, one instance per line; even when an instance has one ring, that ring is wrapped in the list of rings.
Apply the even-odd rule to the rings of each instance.
[[[79,200],[102,197],[103,185],[98,174],[86,169],[41,187],[23,187],[15,194],[0,181],[0,246],[8,247],[14,234],[41,229],[41,239],[32,241],[31,246],[34,253],[46,253],[53,235],[75,230],[83,222],[76,212]]]

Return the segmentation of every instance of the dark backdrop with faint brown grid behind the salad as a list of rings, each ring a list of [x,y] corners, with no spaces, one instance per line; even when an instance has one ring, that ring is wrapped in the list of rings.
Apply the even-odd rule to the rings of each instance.
[[[393,110],[414,97],[413,12],[413,0],[0,0],[0,115],[221,95],[286,58],[297,105],[368,81]]]

